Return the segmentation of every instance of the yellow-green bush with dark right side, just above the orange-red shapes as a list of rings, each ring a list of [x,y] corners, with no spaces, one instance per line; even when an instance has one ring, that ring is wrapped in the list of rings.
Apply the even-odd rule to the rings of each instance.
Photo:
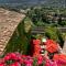
[[[64,38],[62,36],[62,33],[56,28],[47,26],[45,29],[45,35],[48,38],[52,38],[52,40],[58,42],[59,45],[63,47],[63,45],[64,45]]]

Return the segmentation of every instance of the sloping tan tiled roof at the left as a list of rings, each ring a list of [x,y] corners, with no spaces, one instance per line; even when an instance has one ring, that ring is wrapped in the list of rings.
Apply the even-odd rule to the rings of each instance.
[[[0,8],[0,54],[24,16],[22,13]]]

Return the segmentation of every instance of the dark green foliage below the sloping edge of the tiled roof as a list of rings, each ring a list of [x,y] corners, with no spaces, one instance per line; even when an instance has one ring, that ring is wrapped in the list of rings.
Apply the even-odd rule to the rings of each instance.
[[[29,36],[30,35],[30,36]],[[21,54],[28,54],[28,47],[30,42],[30,32],[24,31],[24,20],[18,25],[12,37],[10,38],[4,53],[20,52]]]

